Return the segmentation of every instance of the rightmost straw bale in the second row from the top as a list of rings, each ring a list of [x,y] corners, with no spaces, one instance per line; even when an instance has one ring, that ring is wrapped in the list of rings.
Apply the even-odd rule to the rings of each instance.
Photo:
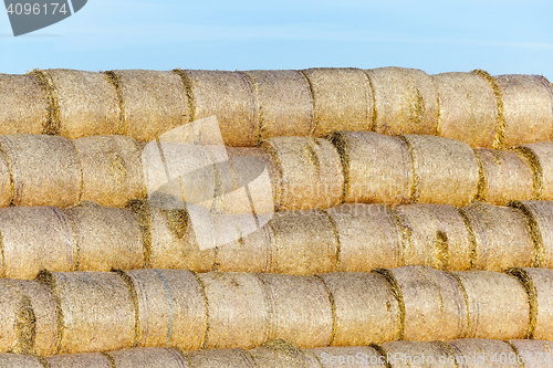
[[[553,141],[538,141],[518,147],[532,166],[533,198],[553,200]]]

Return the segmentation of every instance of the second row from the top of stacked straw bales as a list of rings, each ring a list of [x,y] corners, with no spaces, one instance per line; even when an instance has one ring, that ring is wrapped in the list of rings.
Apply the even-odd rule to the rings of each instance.
[[[146,146],[124,136],[0,136],[0,207],[123,207],[164,185],[177,185],[173,196],[181,201],[217,203],[219,213],[249,213],[244,188],[257,213],[342,202],[553,200],[553,141],[491,150],[434,136],[337,132],[330,139],[270,138],[260,148]]]

